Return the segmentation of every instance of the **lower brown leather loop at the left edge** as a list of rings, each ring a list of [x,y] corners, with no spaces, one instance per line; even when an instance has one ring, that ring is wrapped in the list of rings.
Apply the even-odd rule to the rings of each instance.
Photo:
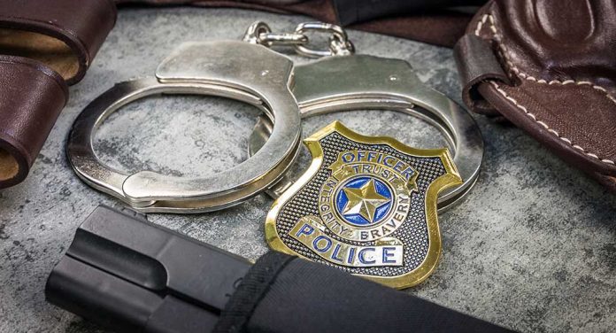
[[[26,178],[67,98],[49,67],[0,56],[0,189]]]

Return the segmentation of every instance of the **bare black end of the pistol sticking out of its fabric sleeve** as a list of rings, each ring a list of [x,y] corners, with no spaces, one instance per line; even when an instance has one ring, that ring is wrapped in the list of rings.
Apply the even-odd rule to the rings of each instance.
[[[50,274],[47,300],[126,332],[209,332],[250,262],[100,205]]]

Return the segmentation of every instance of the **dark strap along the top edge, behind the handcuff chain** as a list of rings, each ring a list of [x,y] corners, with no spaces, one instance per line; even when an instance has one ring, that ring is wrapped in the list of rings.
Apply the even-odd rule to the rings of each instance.
[[[452,4],[483,4],[486,0],[115,0],[116,4],[194,4],[248,8],[307,15],[320,21],[378,34],[394,35],[452,47],[464,35],[474,7],[452,10]],[[382,4],[381,4],[382,3]],[[412,4],[409,4],[412,3]],[[361,13],[355,12],[361,7]],[[423,8],[423,11],[417,11]],[[402,9],[402,10],[401,10]],[[369,12],[372,10],[372,12]],[[429,10],[426,12],[425,10]]]

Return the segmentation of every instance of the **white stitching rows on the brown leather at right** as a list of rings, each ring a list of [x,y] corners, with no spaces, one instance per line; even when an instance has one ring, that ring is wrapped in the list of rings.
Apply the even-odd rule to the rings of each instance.
[[[507,65],[507,69],[512,72],[513,74],[518,75],[520,78],[525,79],[527,81],[534,81],[536,83],[540,83],[540,84],[548,84],[548,85],[553,85],[553,84],[559,84],[559,85],[567,85],[567,84],[576,84],[579,86],[589,86],[592,87],[593,89],[597,89],[599,91],[601,91],[602,93],[605,94],[605,97],[609,98],[613,103],[616,103],[616,98],[612,97],[612,95],[610,95],[610,93],[604,89],[603,87],[597,86],[596,84],[593,84],[590,81],[574,81],[574,80],[566,80],[566,81],[558,81],[558,80],[551,80],[551,81],[547,81],[544,79],[537,79],[532,75],[523,73],[522,71],[520,71],[520,69],[515,66],[511,60],[509,60],[508,58],[508,50],[507,47],[504,46],[504,44],[501,42],[501,36],[498,35],[498,31],[497,31],[497,27],[496,24],[494,22],[494,17],[491,14],[484,14],[481,19],[479,20],[479,22],[477,22],[477,27],[475,28],[474,34],[478,37],[481,37],[481,29],[485,26],[486,22],[489,21],[489,28],[492,31],[492,33],[494,34],[494,40],[497,42],[498,44],[498,49],[499,49],[499,53],[501,54],[501,57],[504,58],[504,61]],[[553,128],[550,128],[550,126],[548,126],[548,124],[546,124],[545,122],[541,121],[541,120],[537,120],[537,117],[535,116],[535,114],[528,112],[526,106],[524,105],[520,105],[520,103],[518,103],[518,101],[516,101],[514,98],[510,97],[503,89],[501,89],[497,82],[495,81],[490,81],[489,83],[492,84],[492,86],[494,86],[494,88],[497,89],[498,93],[500,93],[501,95],[503,95],[503,97],[505,97],[507,100],[509,100],[510,102],[513,103],[513,105],[517,106],[521,111],[523,111],[528,117],[530,117],[532,120],[535,120],[535,122],[539,125],[541,125],[543,128],[545,128],[548,132],[550,132],[552,135],[557,136],[560,140],[564,141],[565,143],[568,143],[569,145],[571,145],[575,150],[577,151],[581,151],[583,154],[593,158],[593,159],[598,159],[601,162],[607,163],[607,164],[611,164],[616,165],[616,163],[612,160],[612,159],[600,159],[597,154],[588,152],[586,150],[584,150],[580,145],[578,144],[574,144],[571,142],[570,139],[567,139],[564,136],[560,136],[558,134],[558,132],[556,130],[554,130]]]

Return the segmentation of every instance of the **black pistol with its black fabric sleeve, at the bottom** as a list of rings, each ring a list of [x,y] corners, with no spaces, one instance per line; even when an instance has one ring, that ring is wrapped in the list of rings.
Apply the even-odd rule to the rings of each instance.
[[[248,260],[98,206],[50,274],[47,299],[120,332],[510,332],[315,262]]]

